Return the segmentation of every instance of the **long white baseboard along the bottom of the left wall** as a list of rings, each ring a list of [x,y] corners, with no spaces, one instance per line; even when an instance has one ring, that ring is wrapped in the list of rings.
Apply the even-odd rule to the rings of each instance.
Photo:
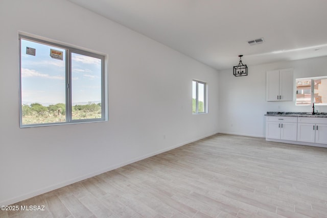
[[[191,143],[191,142],[194,142],[194,141],[198,141],[200,139],[203,139],[203,138],[206,138],[206,137],[215,135],[217,133],[218,132],[215,132],[215,133],[208,134],[208,135],[205,135],[205,136],[202,136],[202,137],[199,137],[199,138],[195,138],[193,140],[189,140],[189,141],[186,141],[186,142],[183,142],[183,143],[180,143],[180,144],[176,144],[175,146],[171,146],[171,147],[168,147],[166,149],[159,150],[157,152],[153,152],[153,153],[150,153],[150,154],[147,154],[147,155],[143,155],[141,157],[138,157],[138,158],[135,158],[135,159],[132,159],[132,160],[123,162],[123,163],[115,164],[115,165],[112,165],[110,167],[104,168],[104,169],[102,169],[100,171],[97,171],[97,172],[94,172],[94,173],[90,173],[90,174],[87,174],[87,175],[84,175],[84,176],[81,176],[81,177],[77,177],[75,179],[67,180],[67,181],[64,181],[64,182],[61,182],[61,183],[58,183],[58,184],[50,185],[48,187],[40,188],[38,190],[31,191],[31,192],[26,193],[24,195],[21,195],[21,196],[15,197],[15,198],[11,198],[11,199],[2,201],[2,202],[0,202],[0,205],[11,205],[11,204],[14,204],[16,202],[20,202],[20,201],[23,201],[23,200],[26,200],[26,199],[29,199],[29,198],[32,198],[32,197],[41,195],[43,193],[46,193],[46,192],[49,192],[49,191],[52,191],[52,190],[55,190],[55,189],[64,187],[66,185],[70,185],[70,184],[73,184],[75,182],[82,181],[84,179],[88,179],[88,178],[91,178],[91,177],[94,177],[94,176],[98,176],[100,174],[106,173],[108,171],[112,171],[113,169],[116,169],[116,168],[119,168],[119,167],[122,167],[122,166],[126,166],[128,164],[137,162],[139,160],[143,160],[143,159],[152,157],[154,155],[158,155],[158,154],[161,154],[161,153],[170,151],[172,149],[175,149],[175,148],[184,146],[185,144],[188,144],[188,143]]]

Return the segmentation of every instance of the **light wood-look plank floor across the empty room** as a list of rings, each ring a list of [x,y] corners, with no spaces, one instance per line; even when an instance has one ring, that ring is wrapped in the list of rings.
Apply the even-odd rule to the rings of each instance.
[[[0,217],[327,217],[327,149],[217,134]]]

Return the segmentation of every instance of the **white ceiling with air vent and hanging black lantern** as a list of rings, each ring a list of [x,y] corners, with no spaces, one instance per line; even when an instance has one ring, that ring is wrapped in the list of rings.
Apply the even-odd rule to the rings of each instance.
[[[327,0],[69,1],[218,70],[327,56]]]

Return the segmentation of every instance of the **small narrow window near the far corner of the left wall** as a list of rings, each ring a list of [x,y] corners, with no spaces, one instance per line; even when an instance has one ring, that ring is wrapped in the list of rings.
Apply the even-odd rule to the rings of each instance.
[[[192,111],[193,111],[193,113],[205,113],[206,112],[206,102],[205,102],[206,87],[205,87],[205,83],[193,80],[192,81],[192,86],[193,86]]]

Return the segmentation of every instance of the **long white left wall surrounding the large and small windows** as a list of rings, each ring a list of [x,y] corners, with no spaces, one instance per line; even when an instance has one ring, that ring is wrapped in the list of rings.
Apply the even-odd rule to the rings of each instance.
[[[2,0],[0,28],[0,205],[218,132],[218,72],[167,46],[65,0]],[[108,122],[19,128],[19,31],[108,55]]]

